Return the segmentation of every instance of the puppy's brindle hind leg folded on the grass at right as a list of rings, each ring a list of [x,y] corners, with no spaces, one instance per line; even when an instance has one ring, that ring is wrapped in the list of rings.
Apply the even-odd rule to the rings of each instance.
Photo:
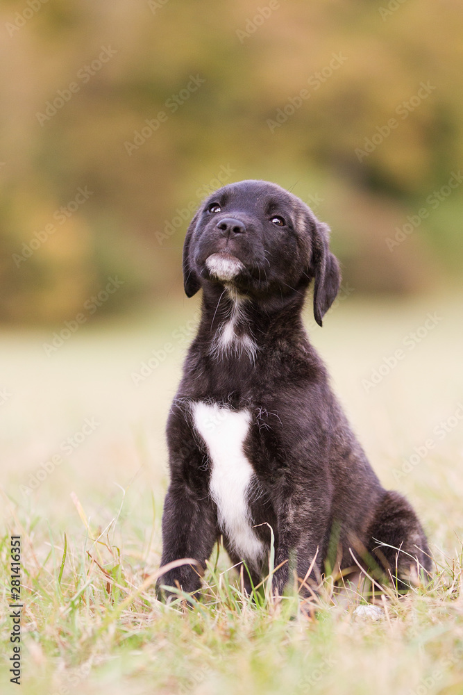
[[[396,491],[385,491],[369,527],[368,552],[399,591],[429,579],[426,535],[412,505]]]

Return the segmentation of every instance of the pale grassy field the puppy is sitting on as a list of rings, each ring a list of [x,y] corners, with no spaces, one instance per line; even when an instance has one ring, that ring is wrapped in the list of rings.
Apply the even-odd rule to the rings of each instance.
[[[194,610],[155,600],[164,427],[194,300],[128,323],[0,336],[3,659],[27,695],[463,693],[461,296],[367,302],[347,291],[310,334],[385,486],[413,502],[430,587],[382,619],[240,591],[222,550]],[[45,345],[44,345],[45,344]],[[47,347],[48,345],[48,347]],[[51,347],[50,347],[51,345]],[[22,542],[22,691],[10,684],[10,536]]]

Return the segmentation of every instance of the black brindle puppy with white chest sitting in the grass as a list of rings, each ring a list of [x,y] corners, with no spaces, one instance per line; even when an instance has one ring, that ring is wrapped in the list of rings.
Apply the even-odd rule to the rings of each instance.
[[[339,289],[328,234],[300,199],[266,181],[225,186],[194,215],[183,273],[188,297],[203,289],[203,306],[167,423],[161,562],[197,564],[160,584],[198,591],[222,535],[233,563],[246,563],[251,591],[269,571],[269,527],[278,594],[289,561],[309,582],[326,564],[355,566],[351,553],[406,584],[430,570],[414,510],[382,488],[303,327],[312,279],[319,325]]]

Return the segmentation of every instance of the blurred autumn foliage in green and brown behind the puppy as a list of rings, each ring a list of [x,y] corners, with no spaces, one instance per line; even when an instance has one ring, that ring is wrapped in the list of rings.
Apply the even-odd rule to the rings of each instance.
[[[187,218],[219,174],[292,188],[332,227],[359,293],[455,281],[463,186],[427,199],[462,161],[462,3],[270,4],[2,0],[2,322],[70,320],[116,275],[124,290],[99,318],[175,300]],[[203,83],[189,92],[191,76]],[[416,105],[421,83],[432,90]],[[358,156],[367,139],[379,144]]]

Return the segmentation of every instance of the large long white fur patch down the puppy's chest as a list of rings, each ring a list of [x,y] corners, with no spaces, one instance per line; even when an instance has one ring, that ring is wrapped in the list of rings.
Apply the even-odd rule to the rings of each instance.
[[[220,528],[239,557],[257,564],[264,544],[252,528],[246,502],[254,472],[243,450],[251,413],[199,402],[193,406],[193,417],[196,430],[208,446],[212,464],[210,495],[217,504]]]

